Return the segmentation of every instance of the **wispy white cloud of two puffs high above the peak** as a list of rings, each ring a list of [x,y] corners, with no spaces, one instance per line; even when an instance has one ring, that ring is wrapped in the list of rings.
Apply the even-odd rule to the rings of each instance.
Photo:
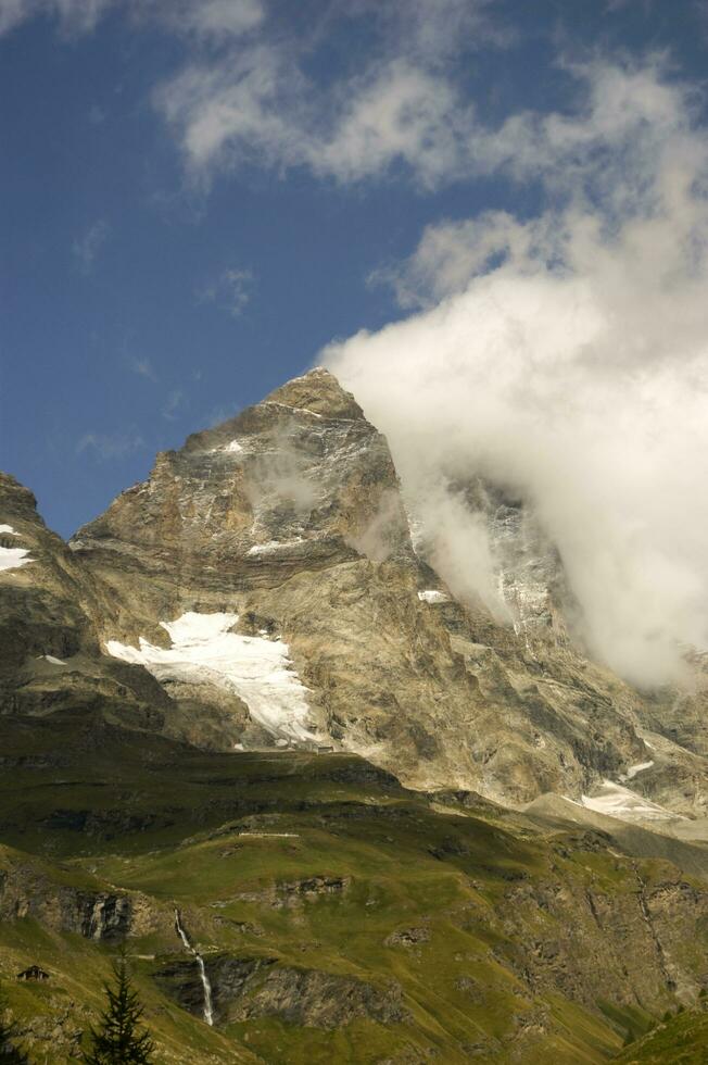
[[[343,183],[404,164],[422,185],[459,176],[471,112],[444,77],[393,60],[329,93],[283,52],[258,46],[194,64],[155,95],[192,178],[257,162]]]

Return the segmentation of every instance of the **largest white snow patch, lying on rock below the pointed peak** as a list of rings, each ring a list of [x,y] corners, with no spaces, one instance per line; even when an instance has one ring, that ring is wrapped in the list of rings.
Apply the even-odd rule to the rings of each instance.
[[[309,707],[282,640],[229,631],[238,614],[188,612],[160,624],[173,646],[154,647],[142,637],[140,648],[109,640],[116,659],[146,666],[160,681],[212,684],[238,696],[251,716],[271,736],[300,742],[316,739],[305,725]]]

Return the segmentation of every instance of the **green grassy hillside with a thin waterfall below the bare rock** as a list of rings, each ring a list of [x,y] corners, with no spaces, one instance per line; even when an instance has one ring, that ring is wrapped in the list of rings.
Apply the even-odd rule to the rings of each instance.
[[[701,1001],[704,881],[603,832],[86,712],[0,718],[0,976],[38,1062],[77,1060],[122,942],[160,1062],[604,1062]]]

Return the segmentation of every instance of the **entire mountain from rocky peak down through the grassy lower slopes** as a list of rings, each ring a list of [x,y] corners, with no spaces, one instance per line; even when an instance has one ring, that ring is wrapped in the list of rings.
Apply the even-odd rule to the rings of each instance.
[[[462,490],[493,606],[321,368],[68,544],[0,475],[0,977],[38,1061],[80,1060],[118,944],[164,1062],[705,1061],[706,657],[592,661],[532,506]]]

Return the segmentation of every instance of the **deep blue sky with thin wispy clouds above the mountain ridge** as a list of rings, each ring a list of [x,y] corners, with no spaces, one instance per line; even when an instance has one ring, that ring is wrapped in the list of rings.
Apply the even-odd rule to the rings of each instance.
[[[567,196],[505,123],[582,114],[578,64],[700,123],[707,40],[694,0],[0,0],[0,465],[71,534],[409,313],[427,226]]]

